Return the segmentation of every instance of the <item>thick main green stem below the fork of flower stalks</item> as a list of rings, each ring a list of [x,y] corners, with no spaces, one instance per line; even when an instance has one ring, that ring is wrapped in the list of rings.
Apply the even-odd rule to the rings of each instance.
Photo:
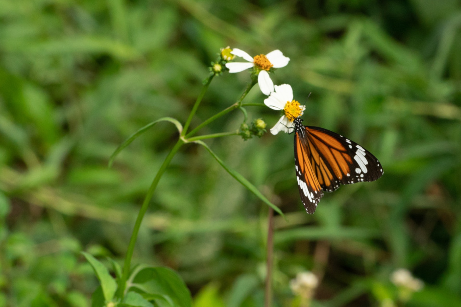
[[[155,178],[149,187],[146,197],[144,198],[142,207],[139,210],[139,213],[138,213],[138,216],[135,222],[135,227],[133,229],[133,233],[131,234],[130,243],[128,244],[128,250],[126,253],[126,257],[125,257],[122,278],[120,278],[119,283],[118,283],[118,293],[117,294],[119,298],[123,298],[125,295],[126,281],[128,279],[128,276],[130,275],[131,257],[133,256],[133,251],[135,249],[136,239],[138,237],[139,227],[141,226],[142,218],[144,217],[144,214],[146,214],[146,211],[149,207],[150,200],[152,199],[152,196],[154,195],[155,188],[157,187],[157,184],[159,183],[160,178],[162,177],[163,173],[165,173],[165,170],[170,164],[173,156],[176,154],[176,152],[179,150],[179,148],[181,148],[183,144],[184,144],[183,139],[178,139],[176,145],[174,145],[174,147],[171,149],[168,156],[166,156],[165,161],[163,161],[162,165],[160,166],[159,171],[155,175]]]

